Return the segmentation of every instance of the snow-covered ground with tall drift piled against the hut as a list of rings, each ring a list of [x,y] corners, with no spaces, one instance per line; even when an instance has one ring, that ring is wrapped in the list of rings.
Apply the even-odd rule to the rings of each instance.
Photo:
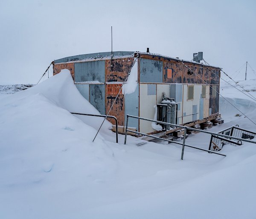
[[[256,89],[255,81],[244,86]],[[250,91],[256,96],[256,92]],[[226,83],[221,94],[256,121],[255,101]],[[256,126],[220,100],[227,123]],[[65,70],[13,95],[0,96],[0,218],[2,219],[220,219],[255,218],[256,145],[225,145],[226,157],[147,142],[109,130]],[[149,125],[151,123],[149,122]],[[186,143],[208,149],[209,135]]]

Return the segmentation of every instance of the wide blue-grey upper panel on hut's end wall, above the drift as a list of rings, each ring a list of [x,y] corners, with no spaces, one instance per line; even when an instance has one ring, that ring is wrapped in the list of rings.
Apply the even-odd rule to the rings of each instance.
[[[75,63],[75,81],[105,82],[105,61]]]

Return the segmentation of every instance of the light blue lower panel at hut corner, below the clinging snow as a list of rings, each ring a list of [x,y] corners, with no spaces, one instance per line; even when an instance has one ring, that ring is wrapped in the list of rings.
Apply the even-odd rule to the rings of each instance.
[[[139,86],[135,92],[125,95],[125,124],[126,124],[126,115],[135,115],[139,116]],[[129,127],[136,127],[139,130],[139,120],[136,118],[129,118]]]

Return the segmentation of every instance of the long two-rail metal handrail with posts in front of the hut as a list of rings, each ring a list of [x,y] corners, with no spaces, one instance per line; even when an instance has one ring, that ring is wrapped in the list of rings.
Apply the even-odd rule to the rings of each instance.
[[[145,134],[145,133],[135,132],[133,130],[128,130],[128,118],[129,117],[131,117],[131,118],[138,118],[138,119],[142,119],[142,120],[145,120],[145,121],[157,122],[159,124],[164,124],[164,125],[173,125],[173,126],[176,126],[176,127],[183,128],[183,129],[185,129],[184,130],[183,143],[172,141],[172,140],[169,140],[169,139],[160,138],[160,137],[157,137],[157,136],[154,136],[154,135],[148,135],[148,134]],[[168,123],[168,122],[157,121],[157,120],[154,120],[154,119],[143,118],[143,117],[139,117],[139,116],[135,116],[135,115],[127,115],[126,127],[125,127],[125,144],[126,144],[127,132],[129,131],[129,132],[132,132],[132,133],[137,133],[137,134],[140,134],[140,135],[145,135],[145,136],[149,136],[149,137],[152,137],[152,138],[157,138],[157,139],[161,139],[161,140],[164,140],[164,141],[174,142],[176,144],[182,145],[181,160],[183,160],[185,146],[186,147],[192,147],[192,148],[195,148],[195,149],[198,149],[198,150],[204,150],[204,151],[207,151],[207,152],[210,152],[210,153],[215,153],[215,154],[218,154],[218,155],[221,155],[221,156],[226,156],[224,154],[217,153],[217,152],[212,151],[212,150],[206,150],[206,149],[203,149],[203,148],[194,147],[194,146],[191,146],[189,144],[185,144],[185,141],[186,141],[186,131],[187,130],[197,131],[197,132],[201,132],[201,133],[207,133],[207,134],[211,134],[211,135],[215,135],[215,136],[221,136],[221,137],[225,137],[225,138],[233,138],[233,139],[236,139],[236,140],[247,141],[247,142],[256,144],[255,141],[250,141],[250,140],[243,139],[243,138],[237,138],[237,137],[233,137],[233,136],[230,136],[230,135],[224,135],[224,134],[220,134],[220,133],[213,133],[213,132],[209,132],[209,131],[205,131],[205,130],[198,130],[198,129],[194,129],[194,128],[187,127],[187,126],[182,126],[182,125],[172,124],[172,123]]]

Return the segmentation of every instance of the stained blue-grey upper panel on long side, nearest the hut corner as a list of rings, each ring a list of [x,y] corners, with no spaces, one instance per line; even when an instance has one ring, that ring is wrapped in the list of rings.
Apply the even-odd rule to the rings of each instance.
[[[140,58],[140,82],[163,83],[163,62]]]

